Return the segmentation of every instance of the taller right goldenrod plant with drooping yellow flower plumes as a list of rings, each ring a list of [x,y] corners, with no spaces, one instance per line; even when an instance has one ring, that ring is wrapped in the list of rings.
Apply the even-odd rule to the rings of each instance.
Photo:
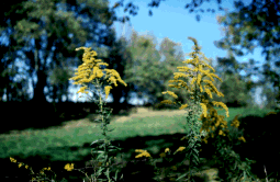
[[[205,100],[205,98],[203,96],[203,92],[206,92],[206,94],[209,94],[209,96],[211,99],[212,99],[212,92],[216,93],[219,96],[224,96],[224,94],[219,92],[217,89],[215,88],[215,86],[213,84],[213,81],[214,81],[213,77],[217,78],[221,82],[222,82],[222,79],[219,78],[216,75],[212,73],[210,70],[203,70],[203,68],[210,68],[213,71],[215,71],[214,68],[212,68],[211,66],[206,65],[203,61],[203,59],[204,60],[209,60],[209,59],[204,56],[203,53],[200,52],[201,47],[199,47],[197,39],[194,39],[192,37],[189,37],[189,39],[191,39],[194,43],[193,52],[189,54],[189,56],[192,57],[192,59],[188,59],[183,62],[191,64],[194,68],[192,69],[189,67],[178,67],[180,72],[175,72],[173,80],[169,81],[169,82],[173,82],[177,84],[169,84],[169,87],[178,88],[178,89],[186,88],[190,92],[190,96],[191,96],[190,99],[193,101],[192,102],[193,104],[190,105],[191,109],[189,110],[189,115],[187,116],[187,126],[188,126],[188,128],[190,128],[190,132],[187,135],[187,138],[190,138],[190,140],[189,140],[188,149],[186,151],[187,152],[186,159],[189,159],[189,161],[190,161],[189,169],[191,170],[191,168],[197,169],[195,166],[198,166],[200,162],[199,150],[197,149],[197,147],[200,147],[200,144],[198,143],[198,140],[201,139],[201,137],[205,136],[205,138],[202,140],[208,143],[206,138],[210,135],[209,128],[211,128],[214,132],[220,126],[219,135],[222,135],[222,136],[226,136],[226,132],[228,133],[228,129],[226,129],[227,123],[225,121],[223,121],[224,116],[217,116],[216,111],[209,104],[209,100]],[[202,56],[202,59],[200,59],[200,57],[199,57],[200,55]],[[179,78],[189,78],[189,77],[191,77],[191,79],[192,79],[190,82],[190,86],[188,86],[188,83],[186,83],[183,80],[179,79]],[[206,77],[209,77],[210,80],[206,80],[205,79]],[[175,99],[178,98],[171,91],[163,92],[163,94],[166,94],[166,93],[171,95]],[[172,102],[171,100],[165,100],[165,101],[161,101],[161,103],[177,104],[177,102]],[[216,106],[221,105],[223,109],[225,109],[226,116],[227,117],[229,116],[228,109],[224,103],[215,102],[215,101],[213,101],[212,103]],[[182,104],[180,102],[179,102],[179,105],[180,105],[179,110],[182,110],[182,109],[186,109],[189,106],[188,104]],[[202,110],[200,110],[200,107]],[[208,110],[210,111],[210,115],[208,115]],[[194,114],[197,114],[197,115],[194,115]],[[201,121],[201,122],[198,122],[198,120],[197,120],[198,117],[195,117],[195,116],[198,116],[198,114],[201,114],[201,118],[199,118],[199,121]],[[234,120],[233,126],[238,127],[237,117]],[[223,128],[225,128],[225,129],[223,129]],[[184,129],[187,130],[187,127],[184,127]],[[214,137],[214,133],[211,133],[211,135],[212,135],[212,137]],[[240,137],[239,139],[245,141],[244,137]],[[221,147],[221,149],[223,147]],[[186,149],[186,147],[179,147],[178,150],[181,151],[183,149]],[[220,150],[220,148],[217,150]],[[139,149],[137,149],[136,151],[139,151]],[[227,152],[231,152],[231,151],[227,151]],[[221,153],[223,156],[227,155],[223,151]],[[145,155],[138,155],[138,156],[136,156],[136,158],[142,157],[142,156],[149,157],[150,155],[147,151],[145,151]],[[192,166],[192,164],[194,164],[194,166]],[[183,177],[189,174],[188,181],[191,181],[191,180],[193,181],[192,172],[190,170],[188,173],[179,177],[177,180],[182,179]]]

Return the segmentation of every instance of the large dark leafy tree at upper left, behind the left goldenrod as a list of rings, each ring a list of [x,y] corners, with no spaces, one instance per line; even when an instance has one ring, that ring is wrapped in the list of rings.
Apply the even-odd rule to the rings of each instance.
[[[63,10],[57,9],[56,5],[63,8]],[[86,7],[83,7],[86,4]],[[89,21],[87,27],[82,26],[81,16],[85,14],[77,14],[67,7],[77,7],[78,9],[87,9],[87,16]],[[83,8],[82,8],[83,7]],[[66,94],[68,89],[68,82],[65,82],[67,75],[57,75],[58,71],[66,71],[68,75],[71,71],[71,67],[76,66],[75,61],[69,60],[69,57],[81,56],[81,54],[76,54],[75,48],[85,45],[86,41],[94,39],[94,47],[101,45],[109,45],[112,41],[112,15],[113,13],[109,11],[109,1],[92,1],[88,0],[86,2],[76,1],[46,1],[36,0],[33,1],[19,1],[18,3],[5,2],[2,7],[2,16],[4,22],[2,22],[1,31],[2,35],[5,33],[10,44],[3,45],[3,58],[4,64],[2,66],[14,66],[14,60],[21,58],[21,55],[16,54],[18,50],[23,52],[24,62],[29,67],[24,72],[16,72],[19,76],[24,75],[26,79],[37,78],[37,81],[33,82],[33,93],[34,100],[40,102],[45,102],[45,98],[48,95],[44,94],[44,89],[47,87],[49,95],[55,98],[61,94]],[[83,11],[82,10],[82,11]],[[9,18],[9,22],[8,22]],[[103,27],[105,25],[105,32]],[[88,29],[93,26],[94,30]],[[102,29],[102,34],[100,34],[100,29]],[[71,34],[71,37],[69,37]],[[44,42],[42,41],[44,36]],[[90,38],[93,37],[93,38]],[[96,39],[96,37],[98,37]],[[31,46],[33,41],[35,41],[35,46]],[[46,44],[45,44],[46,43]],[[53,50],[53,46],[56,47]],[[30,49],[31,48],[31,49]],[[38,56],[38,53],[43,52],[44,56]],[[52,55],[52,56],[51,56]],[[47,62],[47,58],[51,56],[52,61]],[[1,70],[3,73],[4,70]],[[35,72],[35,77],[34,77]],[[12,76],[11,73],[9,73]],[[3,77],[3,76],[2,76]],[[2,79],[4,88],[9,92],[12,92],[13,81]],[[21,81],[25,84],[24,81]],[[25,84],[27,88],[29,86]],[[3,89],[0,89],[0,94],[2,96]],[[36,88],[36,89],[35,89]],[[27,90],[27,89],[26,89]],[[60,91],[60,92],[59,92]],[[53,92],[53,93],[52,93]],[[52,98],[53,98],[52,96]]]

